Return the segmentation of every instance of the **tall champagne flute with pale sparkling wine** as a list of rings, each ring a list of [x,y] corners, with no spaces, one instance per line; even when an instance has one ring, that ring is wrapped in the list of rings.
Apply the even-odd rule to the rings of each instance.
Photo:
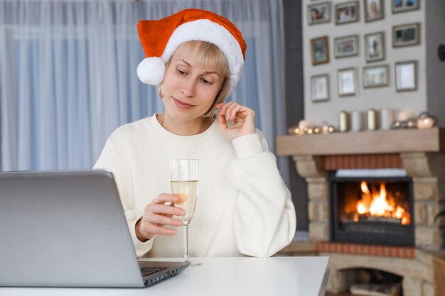
[[[197,159],[171,159],[171,193],[178,194],[175,207],[186,211],[184,216],[178,216],[183,222],[184,234],[184,261],[188,258],[188,224],[195,212],[196,197],[198,197],[198,160]]]

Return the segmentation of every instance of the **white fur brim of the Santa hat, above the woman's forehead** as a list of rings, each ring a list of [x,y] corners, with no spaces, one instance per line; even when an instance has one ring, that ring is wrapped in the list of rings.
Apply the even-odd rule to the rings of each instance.
[[[166,63],[168,61],[179,45],[191,40],[213,43],[223,51],[230,69],[230,86],[227,92],[227,97],[229,97],[237,86],[238,80],[240,80],[244,66],[244,56],[242,55],[240,43],[238,43],[232,33],[218,23],[208,19],[190,21],[178,26],[171,34],[161,56],[163,62]]]

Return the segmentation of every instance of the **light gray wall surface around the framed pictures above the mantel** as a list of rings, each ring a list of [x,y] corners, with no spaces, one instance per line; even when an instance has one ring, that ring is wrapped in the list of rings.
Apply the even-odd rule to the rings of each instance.
[[[328,1],[328,0],[326,0]],[[343,4],[348,1],[328,1],[331,3],[331,21],[328,23],[318,23],[309,25],[307,19],[307,6],[311,4],[319,4],[325,1],[303,0],[303,40],[304,40],[304,114],[309,121],[328,121],[329,124],[338,125],[338,113],[345,111],[366,111],[370,108],[374,109],[393,109],[395,114],[399,111],[410,111],[414,115],[427,109],[427,79],[426,70],[426,41],[425,41],[425,10],[434,10],[436,18],[430,19],[429,23],[433,23],[444,16],[444,11],[439,12],[436,6],[444,6],[443,0],[418,0],[420,1],[420,9],[404,13],[392,13],[390,0],[385,0],[385,18],[382,20],[365,22],[364,1],[359,2],[359,21],[354,23],[345,23],[336,25],[334,19],[334,11],[336,4]],[[427,6],[428,2],[428,6]],[[434,2],[434,4],[433,4]],[[440,4],[439,4],[440,3]],[[434,7],[433,7],[434,6]],[[441,19],[441,23],[444,20]],[[407,23],[421,23],[420,45],[412,45],[402,48],[392,48],[392,26],[403,25]],[[428,26],[428,24],[427,24]],[[440,28],[439,23],[435,24],[438,31],[443,34],[443,26]],[[366,62],[364,50],[364,35],[368,33],[385,32],[385,60],[380,62]],[[322,65],[312,65],[310,40],[311,38],[328,35],[329,37],[329,56],[330,62]],[[336,58],[333,55],[333,40],[341,36],[358,35],[359,46],[358,56]],[[414,92],[396,92],[395,89],[395,62],[416,60],[417,61],[417,91]],[[363,88],[363,67],[374,65],[389,65],[389,85],[387,87],[379,87],[373,89]],[[337,70],[341,68],[355,67],[358,73],[358,93],[353,97],[340,97],[337,87]],[[312,75],[329,75],[331,98],[328,102],[311,102],[311,76]],[[441,85],[444,87],[444,85]]]

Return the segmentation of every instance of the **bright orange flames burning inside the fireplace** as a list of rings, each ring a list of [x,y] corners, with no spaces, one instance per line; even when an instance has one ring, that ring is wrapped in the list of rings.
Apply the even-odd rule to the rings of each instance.
[[[410,223],[409,212],[396,205],[392,196],[388,196],[385,183],[380,183],[380,192],[377,190],[370,192],[365,181],[361,182],[360,187],[362,198],[355,204],[358,214],[400,219],[403,225]],[[355,217],[355,221],[358,221],[358,216]]]

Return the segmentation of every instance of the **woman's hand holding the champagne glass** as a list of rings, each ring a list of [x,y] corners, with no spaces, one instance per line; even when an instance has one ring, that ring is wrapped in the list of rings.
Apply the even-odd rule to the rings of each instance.
[[[182,226],[183,223],[179,219],[173,219],[173,216],[184,216],[186,211],[179,207],[175,207],[173,202],[178,200],[176,194],[162,193],[153,199],[150,204],[147,204],[144,209],[144,216],[142,216],[136,223],[136,237],[139,241],[147,241],[155,234],[163,234],[172,236],[176,234],[176,229],[164,227]],[[171,202],[171,204],[165,204]]]

